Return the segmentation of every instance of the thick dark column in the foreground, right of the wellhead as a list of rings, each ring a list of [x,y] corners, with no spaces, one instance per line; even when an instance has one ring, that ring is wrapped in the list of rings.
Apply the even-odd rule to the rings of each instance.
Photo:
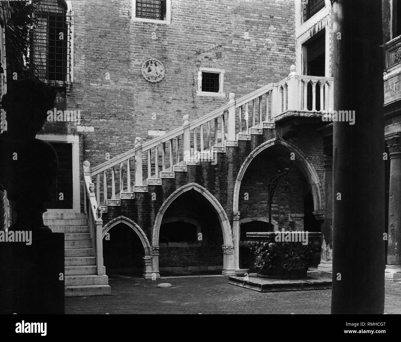
[[[333,123],[332,313],[383,313],[385,232],[381,1],[331,0]],[[369,52],[368,52],[369,51]]]

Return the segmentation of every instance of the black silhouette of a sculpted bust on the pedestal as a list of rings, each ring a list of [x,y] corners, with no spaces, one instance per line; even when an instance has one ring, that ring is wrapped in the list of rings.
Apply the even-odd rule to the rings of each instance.
[[[34,78],[14,81],[2,98],[7,130],[0,134],[0,190],[7,191],[16,215],[9,230],[51,232],[43,213],[58,160],[53,146],[35,136],[54,100],[55,91]]]

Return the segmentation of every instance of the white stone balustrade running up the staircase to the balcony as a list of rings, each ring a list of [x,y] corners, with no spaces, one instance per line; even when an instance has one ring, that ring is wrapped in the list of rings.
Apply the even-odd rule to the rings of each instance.
[[[211,160],[215,149],[235,145],[237,134],[249,137],[250,132],[255,132],[251,128],[261,132],[263,122],[274,122],[281,114],[332,108],[332,77],[296,75],[293,65],[290,71],[279,83],[265,85],[237,100],[230,93],[228,104],[192,122],[184,115],[182,126],[162,136],[145,143],[136,138],[133,149],[100,165],[89,169],[89,162],[84,162],[85,210],[96,248],[98,272],[103,272],[100,257],[103,253],[99,252],[102,223],[97,212],[100,206],[132,198],[136,191],[147,191],[146,185],[161,184],[162,178],[173,177],[173,171],[183,171],[194,156],[199,156],[198,160]]]

